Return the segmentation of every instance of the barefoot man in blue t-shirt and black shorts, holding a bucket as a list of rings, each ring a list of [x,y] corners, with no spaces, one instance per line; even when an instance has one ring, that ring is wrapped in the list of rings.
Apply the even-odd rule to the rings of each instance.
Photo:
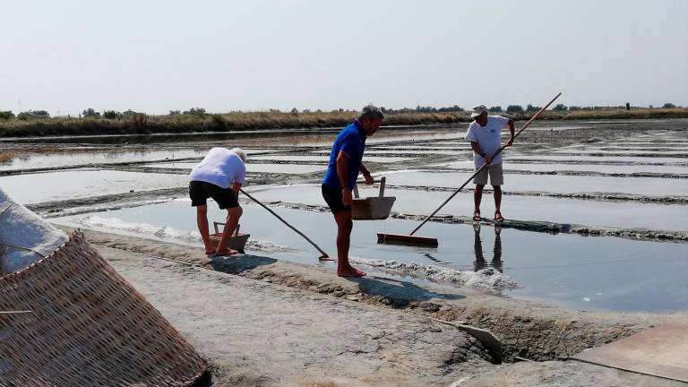
[[[363,277],[348,262],[348,246],[351,238],[351,191],[356,185],[358,173],[366,177],[366,185],[373,184],[370,171],[363,165],[363,151],[366,137],[373,135],[383,123],[383,112],[373,105],[363,107],[361,114],[347,125],[332,144],[330,163],[323,178],[323,199],[337,222],[337,275],[340,277]]]

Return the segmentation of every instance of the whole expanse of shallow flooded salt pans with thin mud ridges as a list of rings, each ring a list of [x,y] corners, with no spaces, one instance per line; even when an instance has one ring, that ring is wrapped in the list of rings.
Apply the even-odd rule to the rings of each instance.
[[[364,162],[375,176],[387,177],[386,194],[397,197],[393,218],[357,222],[351,254],[364,265],[382,260],[456,271],[495,266],[520,284],[497,289],[509,297],[574,308],[684,310],[687,127],[686,120],[538,123],[504,154],[503,228],[487,221],[474,229],[468,185],[420,232],[437,237],[437,249],[377,245],[375,234],[409,233],[470,176],[469,144],[460,138],[464,128],[383,129],[369,139]],[[334,222],[323,212],[319,181],[335,134],[211,142],[185,135],[159,143],[121,138],[116,146],[111,138],[59,147],[4,142],[0,186],[56,222],[198,244],[185,202],[186,174],[209,148],[242,146],[249,155],[246,190],[334,254]],[[376,189],[361,187],[361,193],[373,196]],[[494,203],[487,191],[482,213],[489,219]],[[122,207],[133,208],[112,211]],[[312,248],[299,236],[257,206],[246,203],[245,210],[249,249],[281,246],[271,252],[276,258],[314,264]],[[213,205],[211,214],[223,218]],[[422,272],[386,275],[431,280]]]

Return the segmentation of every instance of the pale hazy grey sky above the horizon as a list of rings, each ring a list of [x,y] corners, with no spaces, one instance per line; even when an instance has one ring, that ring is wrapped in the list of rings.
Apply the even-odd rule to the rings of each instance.
[[[0,110],[688,106],[685,0],[4,0]]]

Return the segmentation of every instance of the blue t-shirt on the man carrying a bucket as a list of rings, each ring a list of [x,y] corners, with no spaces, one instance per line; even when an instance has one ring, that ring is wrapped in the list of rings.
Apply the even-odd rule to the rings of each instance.
[[[323,185],[335,189],[342,188],[340,178],[337,176],[337,155],[340,154],[340,150],[348,155],[348,188],[354,189],[358,171],[361,168],[363,150],[366,150],[366,131],[358,120],[354,120],[342,129],[337,135],[337,139],[332,143],[330,163],[327,165]]]

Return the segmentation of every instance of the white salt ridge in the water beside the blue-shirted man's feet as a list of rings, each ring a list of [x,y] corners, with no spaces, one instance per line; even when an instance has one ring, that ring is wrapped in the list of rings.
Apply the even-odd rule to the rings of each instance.
[[[510,290],[521,288],[519,282],[496,271],[494,268],[486,268],[480,271],[459,271],[442,266],[424,265],[416,262],[406,263],[368,260],[357,257],[350,257],[349,262],[364,264],[376,270],[390,272],[392,274],[432,280],[435,282],[446,282],[456,286],[465,286],[482,290]]]

